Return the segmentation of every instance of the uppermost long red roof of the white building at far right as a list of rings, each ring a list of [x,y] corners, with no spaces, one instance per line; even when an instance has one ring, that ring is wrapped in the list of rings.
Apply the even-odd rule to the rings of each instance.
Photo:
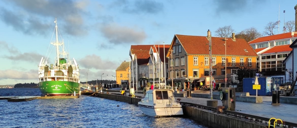
[[[294,37],[296,37],[296,36],[297,36],[297,34],[294,34]],[[270,40],[280,40],[280,39],[286,39],[286,38],[292,38],[291,32],[260,37],[260,38],[250,41],[249,44],[266,42],[266,41],[270,41]]]

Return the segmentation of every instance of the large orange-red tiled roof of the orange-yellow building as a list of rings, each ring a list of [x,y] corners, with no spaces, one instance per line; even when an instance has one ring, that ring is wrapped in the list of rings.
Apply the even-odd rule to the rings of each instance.
[[[187,54],[209,54],[209,41],[206,36],[176,35],[176,37]],[[225,46],[223,45],[225,41],[221,39],[223,38],[211,37],[213,55],[225,55]],[[244,39],[236,39],[236,41],[231,38],[227,39],[227,55],[257,56],[255,50]],[[244,49],[247,49],[248,52],[245,52]]]

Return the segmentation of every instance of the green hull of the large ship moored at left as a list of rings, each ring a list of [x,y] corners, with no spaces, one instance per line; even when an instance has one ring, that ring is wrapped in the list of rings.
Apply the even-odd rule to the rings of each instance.
[[[74,95],[74,93],[78,95],[80,85],[69,81],[43,81],[39,82],[39,89],[42,95]]]

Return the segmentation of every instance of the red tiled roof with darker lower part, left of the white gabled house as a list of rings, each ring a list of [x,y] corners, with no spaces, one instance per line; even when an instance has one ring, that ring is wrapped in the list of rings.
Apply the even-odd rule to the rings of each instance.
[[[131,54],[135,54],[137,57],[137,64],[149,63],[149,50],[153,45],[131,45]]]

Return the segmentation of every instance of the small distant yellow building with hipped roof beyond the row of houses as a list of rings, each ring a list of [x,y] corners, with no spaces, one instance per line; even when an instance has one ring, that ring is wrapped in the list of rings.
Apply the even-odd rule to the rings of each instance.
[[[130,61],[131,64],[131,61]],[[121,80],[129,80],[129,62],[123,61],[116,69],[116,83],[121,84]]]

